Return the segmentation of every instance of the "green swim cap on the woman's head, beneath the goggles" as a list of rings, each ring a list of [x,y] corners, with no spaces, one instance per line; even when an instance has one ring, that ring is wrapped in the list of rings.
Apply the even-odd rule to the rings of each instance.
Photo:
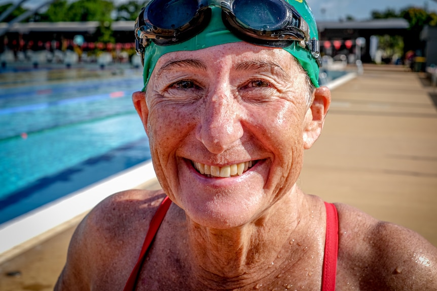
[[[285,1],[292,5],[305,19],[309,26],[310,38],[318,39],[317,25],[306,0]],[[208,26],[196,36],[184,41],[183,43],[170,46],[158,46],[151,42],[150,45],[145,48],[143,72],[144,87],[142,91],[145,90],[156,62],[162,55],[177,51],[196,51],[217,45],[237,43],[239,41],[242,40],[230,32],[223,24],[222,9],[219,7],[212,7],[211,21]],[[319,87],[319,66],[316,58],[311,54],[311,52],[302,48],[298,41],[293,41],[291,46],[283,49],[292,54],[299,61],[310,77],[313,85],[316,88]]]

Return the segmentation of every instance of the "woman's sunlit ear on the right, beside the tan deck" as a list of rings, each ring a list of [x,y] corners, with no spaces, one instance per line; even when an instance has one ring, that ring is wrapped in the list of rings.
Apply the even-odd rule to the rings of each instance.
[[[327,87],[316,88],[314,101],[304,120],[304,148],[309,149],[320,136],[324,118],[331,104],[331,91]]]

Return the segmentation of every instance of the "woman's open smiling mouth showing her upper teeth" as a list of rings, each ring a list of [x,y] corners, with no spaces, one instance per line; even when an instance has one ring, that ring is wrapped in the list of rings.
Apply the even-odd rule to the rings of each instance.
[[[215,165],[203,164],[196,161],[191,162],[194,169],[206,177],[229,178],[243,175],[247,170],[252,168],[258,162],[258,160],[250,160],[237,164],[225,165],[224,167],[217,167]]]

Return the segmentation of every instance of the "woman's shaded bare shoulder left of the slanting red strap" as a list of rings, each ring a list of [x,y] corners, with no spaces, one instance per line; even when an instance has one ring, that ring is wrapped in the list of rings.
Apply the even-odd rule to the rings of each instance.
[[[164,197],[162,190],[128,190],[101,201],[71,238],[55,290],[123,289]]]

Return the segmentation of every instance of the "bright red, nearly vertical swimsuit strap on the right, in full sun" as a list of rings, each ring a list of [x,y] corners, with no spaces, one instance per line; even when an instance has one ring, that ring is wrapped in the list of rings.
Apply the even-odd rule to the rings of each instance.
[[[334,291],[338,257],[338,214],[334,204],[326,203],[326,240],[323,256],[322,291]]]

